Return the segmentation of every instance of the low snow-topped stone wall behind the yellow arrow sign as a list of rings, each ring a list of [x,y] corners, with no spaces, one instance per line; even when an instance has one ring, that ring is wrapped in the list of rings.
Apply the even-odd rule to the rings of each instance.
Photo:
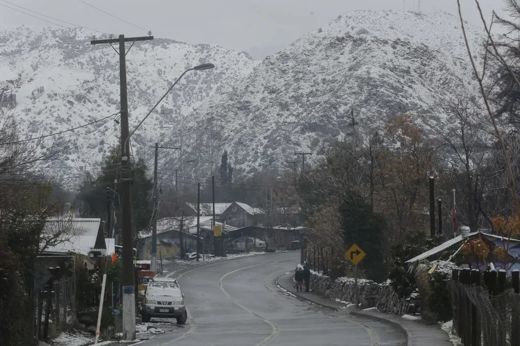
[[[354,278],[337,278],[331,282],[329,276],[311,271],[310,289],[331,299],[345,302],[356,301]],[[395,293],[389,282],[378,284],[371,280],[359,279],[359,298],[361,307],[376,307],[379,311],[404,315],[408,309],[408,301]]]

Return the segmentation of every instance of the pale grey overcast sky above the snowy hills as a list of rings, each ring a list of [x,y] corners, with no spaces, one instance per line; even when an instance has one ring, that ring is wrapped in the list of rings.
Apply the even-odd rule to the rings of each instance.
[[[465,18],[479,24],[474,1],[461,2],[464,4]],[[36,17],[40,16],[28,10],[100,32],[146,35],[138,27],[85,3],[151,30],[155,37],[245,50],[257,59],[276,52],[306,32],[348,11],[419,10],[419,0],[0,0],[0,5],[4,5],[0,6],[0,24],[51,25],[5,7],[9,6]],[[457,13],[456,0],[422,0],[420,3],[421,11]],[[503,13],[502,0],[480,0],[480,4],[487,17],[490,17],[492,9]]]

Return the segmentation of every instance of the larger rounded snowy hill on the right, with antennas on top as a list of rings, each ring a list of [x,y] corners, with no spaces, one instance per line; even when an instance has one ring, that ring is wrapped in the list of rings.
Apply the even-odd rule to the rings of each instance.
[[[478,56],[482,37],[468,30]],[[267,57],[170,138],[218,144],[243,170],[276,169],[295,151],[347,135],[351,108],[365,132],[405,111],[435,124],[445,118],[440,100],[476,95],[472,73],[459,19],[448,13],[346,13]]]

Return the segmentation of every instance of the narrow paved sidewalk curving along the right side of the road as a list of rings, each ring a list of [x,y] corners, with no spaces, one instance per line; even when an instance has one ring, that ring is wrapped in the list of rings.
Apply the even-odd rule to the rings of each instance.
[[[439,325],[426,325],[421,321],[403,319],[399,315],[383,313],[376,310],[357,310],[355,307],[346,308],[344,303],[329,298],[323,298],[313,292],[295,292],[292,275],[281,275],[277,280],[280,287],[288,290],[297,298],[307,300],[335,311],[348,312],[353,316],[379,321],[399,329],[407,338],[407,345],[421,346],[453,346],[448,335]]]

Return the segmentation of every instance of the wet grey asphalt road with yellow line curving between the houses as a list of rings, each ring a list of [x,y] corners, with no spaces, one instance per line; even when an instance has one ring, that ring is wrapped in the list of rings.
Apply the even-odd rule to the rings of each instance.
[[[404,344],[404,336],[387,325],[345,316],[284,292],[275,280],[290,275],[299,258],[299,252],[257,255],[185,272],[178,280],[189,323],[140,345]]]

